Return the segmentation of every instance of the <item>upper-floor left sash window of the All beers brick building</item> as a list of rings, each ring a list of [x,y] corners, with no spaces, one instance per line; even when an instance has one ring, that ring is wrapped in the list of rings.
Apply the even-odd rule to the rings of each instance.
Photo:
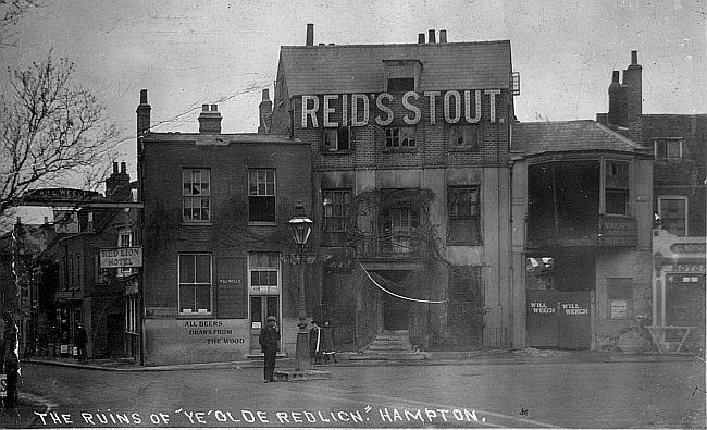
[[[182,221],[211,221],[211,173],[208,169],[182,170]]]

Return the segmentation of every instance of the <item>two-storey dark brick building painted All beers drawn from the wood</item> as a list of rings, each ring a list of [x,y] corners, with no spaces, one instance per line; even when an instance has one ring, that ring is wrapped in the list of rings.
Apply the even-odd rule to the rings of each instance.
[[[300,278],[287,221],[296,202],[312,207],[309,145],[223,134],[216,105],[203,106],[199,133],[150,132],[150,112],[142,90],[145,365],[260,355],[258,333],[270,315],[280,319],[281,351],[294,356]],[[310,270],[305,277],[311,309],[309,288],[320,283]]]

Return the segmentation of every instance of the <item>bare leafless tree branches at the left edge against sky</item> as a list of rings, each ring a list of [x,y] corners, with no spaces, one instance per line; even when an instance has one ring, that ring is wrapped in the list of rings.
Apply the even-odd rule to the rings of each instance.
[[[72,84],[66,59],[9,71],[0,97],[0,217],[41,187],[96,189],[107,174],[115,127],[96,97]]]

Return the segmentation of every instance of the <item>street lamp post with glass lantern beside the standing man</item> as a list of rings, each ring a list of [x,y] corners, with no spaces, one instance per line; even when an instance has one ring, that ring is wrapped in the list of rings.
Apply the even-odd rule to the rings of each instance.
[[[295,216],[288,221],[288,224],[293,231],[295,244],[297,244],[299,260],[299,306],[297,311],[299,331],[297,332],[297,349],[295,353],[297,365],[295,369],[305,371],[310,368],[309,339],[307,335],[307,321],[305,321],[307,317],[307,309],[305,308],[305,245],[307,245],[307,239],[312,233],[314,222],[305,214],[305,205],[301,201],[295,205]]]

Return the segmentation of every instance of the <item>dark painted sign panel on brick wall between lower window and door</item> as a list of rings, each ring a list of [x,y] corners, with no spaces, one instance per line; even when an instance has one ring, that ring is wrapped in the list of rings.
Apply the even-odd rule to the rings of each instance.
[[[220,318],[246,318],[244,265],[243,258],[216,258],[216,315]]]

